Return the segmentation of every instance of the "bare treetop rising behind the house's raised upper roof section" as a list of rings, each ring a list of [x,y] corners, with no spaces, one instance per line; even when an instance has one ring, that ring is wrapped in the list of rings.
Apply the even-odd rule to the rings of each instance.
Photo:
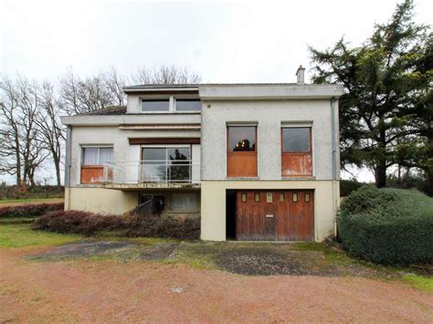
[[[185,67],[160,65],[154,68],[140,67],[132,74],[134,84],[196,84],[201,78]]]

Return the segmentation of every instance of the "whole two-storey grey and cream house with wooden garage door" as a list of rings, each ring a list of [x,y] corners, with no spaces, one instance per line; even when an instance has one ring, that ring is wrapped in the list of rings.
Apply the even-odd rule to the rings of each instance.
[[[204,240],[312,240],[339,206],[334,85],[144,85],[127,107],[63,117],[66,209],[123,214],[153,200],[201,217]]]

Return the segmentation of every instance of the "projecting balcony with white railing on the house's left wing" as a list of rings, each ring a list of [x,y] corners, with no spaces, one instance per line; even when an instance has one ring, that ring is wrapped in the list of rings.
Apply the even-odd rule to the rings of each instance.
[[[200,188],[200,162],[193,160],[111,162],[104,166],[103,179],[104,187],[108,189]]]

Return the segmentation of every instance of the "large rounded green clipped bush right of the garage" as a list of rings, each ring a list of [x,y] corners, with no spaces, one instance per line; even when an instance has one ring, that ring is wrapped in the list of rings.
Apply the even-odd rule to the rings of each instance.
[[[402,266],[433,261],[433,198],[423,193],[366,185],[344,199],[337,224],[353,256]]]

